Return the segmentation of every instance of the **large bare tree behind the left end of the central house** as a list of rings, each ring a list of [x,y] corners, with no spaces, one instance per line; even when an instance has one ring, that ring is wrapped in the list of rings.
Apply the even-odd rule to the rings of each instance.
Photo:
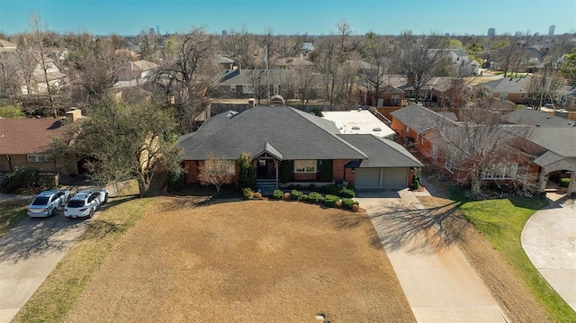
[[[169,41],[175,46],[166,52],[156,81],[166,100],[175,98],[176,117],[184,129],[192,130],[194,119],[208,106],[208,94],[220,76],[214,60],[215,40],[202,28],[173,37]]]

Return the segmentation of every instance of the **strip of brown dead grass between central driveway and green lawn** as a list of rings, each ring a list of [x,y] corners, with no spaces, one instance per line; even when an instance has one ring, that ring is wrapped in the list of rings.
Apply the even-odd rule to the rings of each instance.
[[[419,201],[428,208],[437,207],[436,214],[450,214],[449,219],[442,220],[442,228],[449,236],[447,239],[458,241],[464,255],[512,322],[553,321],[506,259],[455,210],[455,202],[434,196],[419,196]]]

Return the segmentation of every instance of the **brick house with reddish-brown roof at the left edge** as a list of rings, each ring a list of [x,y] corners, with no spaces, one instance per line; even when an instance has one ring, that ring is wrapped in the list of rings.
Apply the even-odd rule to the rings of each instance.
[[[0,172],[32,168],[41,172],[78,174],[74,160],[56,163],[47,151],[62,134],[58,119],[0,120]]]

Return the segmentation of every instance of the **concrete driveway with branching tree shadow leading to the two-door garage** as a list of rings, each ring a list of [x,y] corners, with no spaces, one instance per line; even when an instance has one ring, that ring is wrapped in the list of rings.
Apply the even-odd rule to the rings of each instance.
[[[359,192],[419,322],[507,322],[463,252],[415,193]]]

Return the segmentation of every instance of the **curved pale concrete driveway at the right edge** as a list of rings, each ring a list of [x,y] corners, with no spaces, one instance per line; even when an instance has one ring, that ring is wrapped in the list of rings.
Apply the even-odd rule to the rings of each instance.
[[[522,247],[545,280],[576,310],[576,203],[563,198],[527,220]]]

